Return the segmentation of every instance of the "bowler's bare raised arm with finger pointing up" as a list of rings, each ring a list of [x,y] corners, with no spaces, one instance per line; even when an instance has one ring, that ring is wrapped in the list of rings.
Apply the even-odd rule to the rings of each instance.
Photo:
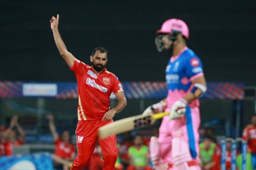
[[[70,52],[68,52],[66,45],[64,44],[64,42],[60,36],[60,32],[58,31],[59,18],[60,18],[60,16],[59,16],[59,14],[57,14],[57,18],[52,16],[52,18],[50,19],[53,37],[54,37],[56,46],[60,52],[60,55],[65,59],[68,66],[72,67],[76,58]]]

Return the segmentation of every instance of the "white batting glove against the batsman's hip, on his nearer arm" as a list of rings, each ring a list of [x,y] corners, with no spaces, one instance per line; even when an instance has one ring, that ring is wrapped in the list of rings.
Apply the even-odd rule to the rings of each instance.
[[[183,98],[173,103],[170,110],[169,121],[183,117],[185,115],[187,105],[188,102]]]

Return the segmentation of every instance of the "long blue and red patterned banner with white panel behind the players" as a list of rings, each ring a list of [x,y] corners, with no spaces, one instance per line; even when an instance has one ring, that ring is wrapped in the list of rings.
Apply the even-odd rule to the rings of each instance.
[[[123,82],[127,99],[162,99],[167,96],[165,82]],[[244,99],[244,84],[230,82],[208,82],[204,99]],[[78,98],[75,82],[28,83],[0,81],[0,98],[53,97]],[[110,99],[114,99],[111,95]]]

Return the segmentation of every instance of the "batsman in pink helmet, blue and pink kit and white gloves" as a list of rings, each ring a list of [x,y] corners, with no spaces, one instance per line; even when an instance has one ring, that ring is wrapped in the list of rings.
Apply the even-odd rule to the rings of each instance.
[[[151,160],[156,170],[200,170],[198,98],[207,90],[203,66],[186,46],[189,29],[184,21],[169,19],[156,33],[157,50],[171,56],[165,69],[168,95],[143,114],[170,114],[162,119],[159,137],[151,137]]]

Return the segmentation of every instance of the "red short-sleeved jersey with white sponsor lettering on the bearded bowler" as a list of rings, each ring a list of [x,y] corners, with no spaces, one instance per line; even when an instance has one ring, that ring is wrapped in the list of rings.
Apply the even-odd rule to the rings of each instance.
[[[107,71],[96,74],[93,67],[75,60],[72,68],[78,85],[78,120],[98,120],[109,111],[109,97],[123,91],[118,78]]]

